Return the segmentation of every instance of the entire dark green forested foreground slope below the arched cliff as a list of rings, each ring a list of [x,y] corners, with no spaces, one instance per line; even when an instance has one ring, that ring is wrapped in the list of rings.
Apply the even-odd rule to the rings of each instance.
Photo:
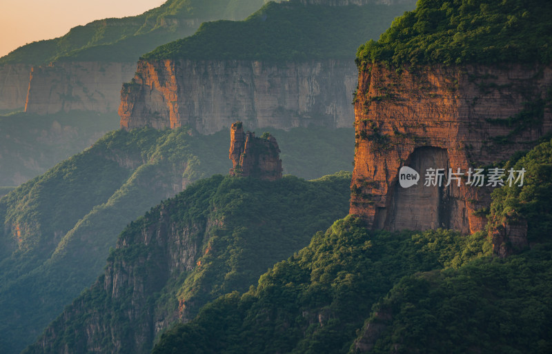
[[[493,256],[483,232],[368,231],[349,216],[152,353],[549,353],[551,157],[548,141],[509,161],[526,185],[493,194],[490,219],[515,209],[528,222],[518,255]]]

